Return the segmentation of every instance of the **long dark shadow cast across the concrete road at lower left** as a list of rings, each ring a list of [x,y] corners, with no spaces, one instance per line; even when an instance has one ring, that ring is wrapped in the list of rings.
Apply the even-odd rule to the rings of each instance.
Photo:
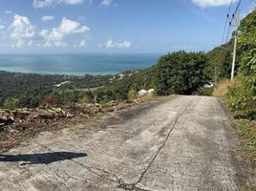
[[[84,158],[85,153],[73,153],[73,152],[53,152],[53,153],[39,153],[39,154],[25,154],[25,155],[1,155],[1,161],[24,161],[22,165],[26,164],[49,164],[55,161],[61,161],[66,159]]]

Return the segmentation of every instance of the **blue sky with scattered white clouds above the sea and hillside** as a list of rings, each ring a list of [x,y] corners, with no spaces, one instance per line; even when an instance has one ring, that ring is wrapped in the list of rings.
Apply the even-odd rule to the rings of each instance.
[[[242,1],[242,16],[254,2]],[[207,52],[222,41],[229,3],[0,0],[0,53]]]

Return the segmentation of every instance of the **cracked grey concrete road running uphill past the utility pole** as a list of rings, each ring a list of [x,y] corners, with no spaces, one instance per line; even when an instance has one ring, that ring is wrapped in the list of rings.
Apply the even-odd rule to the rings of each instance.
[[[98,121],[40,134],[0,155],[0,190],[222,191],[245,184],[238,140],[214,97],[163,98]]]

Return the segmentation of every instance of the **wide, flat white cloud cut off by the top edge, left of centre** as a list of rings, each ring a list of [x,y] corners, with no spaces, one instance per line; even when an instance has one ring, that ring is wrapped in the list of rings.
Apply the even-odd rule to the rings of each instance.
[[[79,5],[83,0],[33,0],[32,5],[34,8],[47,8],[56,4]]]

